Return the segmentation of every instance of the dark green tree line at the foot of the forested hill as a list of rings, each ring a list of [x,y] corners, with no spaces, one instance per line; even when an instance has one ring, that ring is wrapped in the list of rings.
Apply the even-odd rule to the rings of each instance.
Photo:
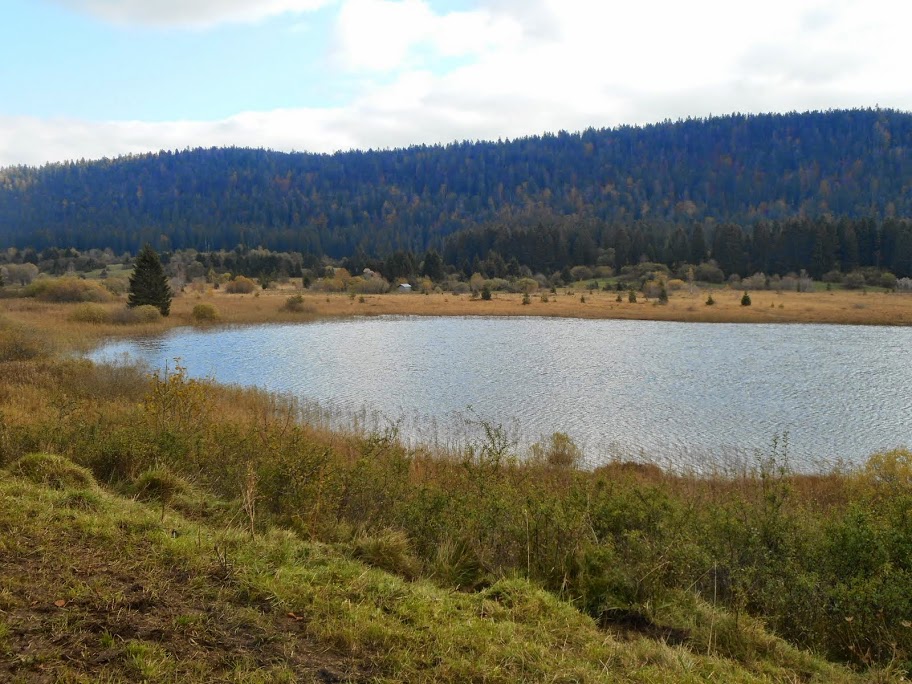
[[[692,267],[704,281],[722,282],[731,276],[799,274],[814,279],[843,280],[839,274],[866,271],[879,281],[882,272],[898,278],[912,277],[912,221],[887,219],[817,218],[761,222],[668,225],[637,222],[633,225],[598,221],[577,223],[554,218],[534,228],[515,224],[488,225],[450,236],[442,250],[396,250],[386,256],[357,250],[344,259],[317,258],[301,252],[264,248],[198,252],[175,250],[161,254],[171,276],[184,282],[229,273],[257,278],[306,281],[332,277],[335,267],[357,275],[365,269],[389,282],[428,278],[469,280],[545,276],[550,282],[579,279],[576,267],[620,273],[639,264],[660,264],[669,272],[686,274]],[[129,253],[112,250],[47,248],[41,251],[8,248],[0,252],[0,266],[12,282],[31,280],[38,272],[51,275],[83,273],[123,264],[131,266]],[[31,267],[28,270],[26,267]],[[593,272],[592,270],[585,272]],[[576,273],[576,275],[574,275]],[[849,280],[848,282],[855,282]]]

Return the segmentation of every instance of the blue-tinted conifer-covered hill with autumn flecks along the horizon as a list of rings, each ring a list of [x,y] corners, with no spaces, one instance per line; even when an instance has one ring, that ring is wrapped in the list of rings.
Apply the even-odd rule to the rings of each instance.
[[[332,155],[197,149],[0,170],[0,246],[384,255],[464,228],[912,216],[912,115],[733,115]]]

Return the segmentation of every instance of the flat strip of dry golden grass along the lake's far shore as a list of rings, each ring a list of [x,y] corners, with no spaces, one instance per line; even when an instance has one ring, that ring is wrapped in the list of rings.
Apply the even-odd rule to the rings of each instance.
[[[569,294],[568,294],[569,292]],[[709,293],[715,304],[706,305]],[[41,302],[34,299],[2,299],[0,315],[37,329],[67,348],[88,349],[99,339],[140,336],[194,325],[192,312],[198,304],[211,304],[218,312],[217,324],[289,323],[314,318],[349,316],[552,316],[591,319],[632,319],[706,323],[842,323],[851,325],[912,325],[912,295],[833,291],[751,293],[751,306],[741,306],[740,290],[699,290],[672,293],[667,304],[639,296],[637,303],[616,301],[615,292],[561,291],[532,295],[524,305],[521,294],[494,293],[490,301],[467,294],[383,294],[351,297],[347,294],[301,292],[294,289],[268,290],[255,295],[231,295],[219,291],[187,293],[174,298],[171,316],[154,323],[118,325],[90,324],[71,320],[74,304]],[[288,311],[290,295],[300,295],[299,311]],[[585,297],[585,301],[582,301]],[[111,314],[125,305],[125,299],[105,304]]]

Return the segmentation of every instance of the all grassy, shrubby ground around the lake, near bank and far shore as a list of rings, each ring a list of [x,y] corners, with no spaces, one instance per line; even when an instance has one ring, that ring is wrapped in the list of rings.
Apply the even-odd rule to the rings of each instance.
[[[566,435],[518,454],[484,424],[476,443],[438,453],[395,429],[314,428],[291,398],[179,365],[150,375],[71,353],[194,321],[624,306],[606,292],[288,306],[297,294],[187,294],[168,319],[127,322],[118,300],[0,300],[8,679],[848,682],[912,667],[908,451],[814,475],[790,471],[781,442],[709,474],[586,470]],[[824,316],[891,318],[906,306],[736,296],[627,306],[724,317],[819,301]],[[194,315],[201,304],[216,315]]]

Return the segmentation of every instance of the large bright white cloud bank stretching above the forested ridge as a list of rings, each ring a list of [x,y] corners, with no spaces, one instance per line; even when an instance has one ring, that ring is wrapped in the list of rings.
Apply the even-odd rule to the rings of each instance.
[[[304,3],[257,7],[292,4]],[[219,3],[242,6],[253,7]],[[335,56],[361,90],[343,106],[214,122],[0,118],[0,165],[210,145],[329,152],[733,111],[912,110],[910,19],[912,5],[890,0],[487,0],[449,13],[424,0],[347,0]],[[440,57],[459,65],[442,71]]]

